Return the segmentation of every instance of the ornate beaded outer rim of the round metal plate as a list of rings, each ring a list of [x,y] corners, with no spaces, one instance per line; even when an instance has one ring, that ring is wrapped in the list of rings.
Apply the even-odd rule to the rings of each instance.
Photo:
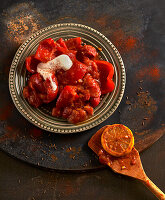
[[[43,35],[46,38],[47,37],[46,34],[48,32],[56,31],[56,29],[59,29],[59,28],[61,28],[61,29],[67,28],[68,30],[69,29],[74,29],[74,30],[82,29],[84,31],[87,31],[88,34],[90,34],[94,37],[98,37],[100,40],[105,42],[105,44],[108,48],[111,49],[111,51],[113,52],[113,54],[115,56],[115,62],[118,63],[118,67],[119,67],[118,70],[120,73],[120,77],[118,77],[118,79],[120,79],[120,86],[118,88],[116,96],[113,96],[111,98],[111,101],[112,101],[111,104],[113,104],[113,105],[111,105],[111,107],[110,107],[110,105],[108,105],[108,107],[105,108],[106,110],[104,110],[104,112],[100,116],[95,117],[95,114],[94,114],[94,116],[91,120],[89,119],[89,120],[84,121],[77,125],[69,124],[68,122],[62,122],[61,124],[60,123],[57,123],[57,124],[52,123],[52,125],[50,125],[46,121],[41,121],[40,117],[34,117],[35,115],[33,116],[33,115],[31,115],[31,113],[29,113],[29,110],[27,109],[27,107],[25,107],[25,104],[22,103],[22,100],[20,100],[20,98],[19,98],[20,94],[18,94],[18,91],[17,91],[19,86],[17,83],[16,70],[17,70],[19,62],[21,60],[21,56],[24,54],[27,47],[32,42],[34,42],[35,40],[38,40]],[[112,55],[110,55],[110,56],[112,56]],[[49,132],[61,133],[61,134],[69,134],[69,133],[77,133],[77,132],[85,131],[85,130],[91,129],[91,128],[101,124],[103,121],[105,121],[108,117],[110,117],[113,114],[113,112],[117,109],[118,105],[120,104],[123,94],[124,94],[125,84],[126,84],[126,73],[125,73],[124,63],[123,63],[121,55],[119,54],[116,47],[99,31],[97,31],[89,26],[82,25],[82,24],[75,24],[75,23],[62,23],[62,24],[50,25],[50,26],[45,27],[45,28],[37,31],[36,33],[32,34],[17,50],[17,52],[14,56],[14,59],[12,61],[10,72],[9,72],[9,90],[10,90],[10,94],[11,94],[13,103],[15,104],[18,111],[28,121],[30,121],[35,126],[38,126],[39,128],[44,129]],[[105,101],[106,101],[106,99],[105,99]],[[56,118],[54,119],[54,122],[56,122]]]

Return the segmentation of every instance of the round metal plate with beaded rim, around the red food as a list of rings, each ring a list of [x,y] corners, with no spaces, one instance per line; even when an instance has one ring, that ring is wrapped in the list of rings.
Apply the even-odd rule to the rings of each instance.
[[[115,68],[114,91],[102,96],[101,102],[95,108],[92,117],[76,125],[64,119],[52,117],[50,113],[51,104],[36,109],[30,106],[23,97],[23,88],[27,84],[29,76],[24,65],[25,58],[35,53],[41,40],[49,37],[54,40],[60,37],[64,39],[81,37],[83,42],[95,48],[100,47],[102,49],[99,52],[101,58],[111,62]],[[77,133],[91,129],[110,117],[120,104],[125,89],[125,82],[124,64],[116,47],[97,30],[74,23],[51,25],[31,35],[16,52],[9,73],[9,90],[18,111],[39,128],[61,134]]]

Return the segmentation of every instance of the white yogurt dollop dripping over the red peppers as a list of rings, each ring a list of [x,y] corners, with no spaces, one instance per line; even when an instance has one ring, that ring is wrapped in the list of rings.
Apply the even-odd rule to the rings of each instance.
[[[72,65],[73,63],[69,56],[62,54],[47,63],[39,63],[37,65],[37,72],[40,73],[44,80],[48,78],[53,90],[56,90],[57,85],[53,82],[52,75],[57,69],[63,69],[64,71],[69,70]]]

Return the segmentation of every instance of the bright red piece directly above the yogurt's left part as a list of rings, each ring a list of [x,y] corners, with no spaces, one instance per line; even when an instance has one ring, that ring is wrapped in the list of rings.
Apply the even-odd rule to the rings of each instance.
[[[41,62],[47,62],[55,58],[57,43],[52,38],[45,39],[39,43],[35,58]]]

